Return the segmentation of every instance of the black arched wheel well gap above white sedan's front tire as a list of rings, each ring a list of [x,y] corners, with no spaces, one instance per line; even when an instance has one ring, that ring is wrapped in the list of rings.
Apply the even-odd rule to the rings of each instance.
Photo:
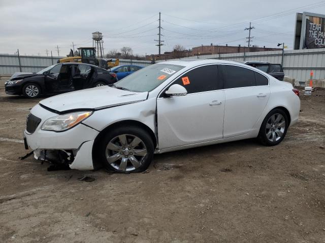
[[[154,135],[154,133],[152,132],[152,130],[147,126],[144,125],[143,123],[140,123],[140,121],[137,120],[121,120],[118,121],[117,123],[114,123],[110,126],[108,126],[107,128],[105,128],[103,131],[100,132],[99,135],[97,135],[97,137],[94,140],[93,146],[92,146],[92,158],[93,158],[93,162],[94,162],[94,167],[95,168],[99,168],[101,167],[100,165],[100,161],[98,161],[98,159],[96,158],[96,149],[98,149],[99,147],[99,143],[101,141],[101,138],[111,129],[114,129],[116,127],[121,127],[121,126],[134,126],[134,127],[141,127],[143,130],[145,130],[146,132],[148,132],[148,134],[150,135],[152,142],[153,142],[153,147],[155,148],[157,146],[157,138]]]

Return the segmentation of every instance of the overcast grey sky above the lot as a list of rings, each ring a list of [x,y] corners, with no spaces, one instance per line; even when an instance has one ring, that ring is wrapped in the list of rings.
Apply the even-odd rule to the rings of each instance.
[[[308,4],[308,5],[307,5]],[[252,45],[293,48],[296,12],[325,14],[325,1],[16,1],[0,0],[0,53],[57,56],[92,46],[91,33],[104,35],[105,53],[124,46],[134,54],[156,54],[161,12],[161,53],[176,44],[244,46],[252,22]]]

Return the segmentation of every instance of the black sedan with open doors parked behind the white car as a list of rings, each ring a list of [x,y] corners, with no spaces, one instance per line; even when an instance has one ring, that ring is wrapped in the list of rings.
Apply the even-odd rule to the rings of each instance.
[[[5,83],[5,90],[9,95],[37,98],[41,94],[59,94],[111,85],[117,82],[114,74],[90,64],[59,63],[37,73],[14,74]]]

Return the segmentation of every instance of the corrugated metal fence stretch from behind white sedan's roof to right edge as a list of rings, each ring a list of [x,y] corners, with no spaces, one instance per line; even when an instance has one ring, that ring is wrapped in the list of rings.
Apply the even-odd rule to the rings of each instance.
[[[229,61],[266,61],[281,63],[282,51],[250,52],[215,54],[205,56],[186,57],[186,59],[222,59]],[[179,60],[179,59],[177,59]],[[285,76],[293,77],[298,82],[306,82],[310,78],[310,71],[314,72],[314,79],[325,79],[325,49],[308,49],[284,51],[283,69]]]

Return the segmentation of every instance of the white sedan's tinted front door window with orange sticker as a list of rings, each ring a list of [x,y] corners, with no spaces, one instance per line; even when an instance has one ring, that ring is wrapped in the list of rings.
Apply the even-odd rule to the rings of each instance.
[[[218,66],[197,67],[184,73],[173,84],[183,86],[188,94],[222,89],[218,86]]]

